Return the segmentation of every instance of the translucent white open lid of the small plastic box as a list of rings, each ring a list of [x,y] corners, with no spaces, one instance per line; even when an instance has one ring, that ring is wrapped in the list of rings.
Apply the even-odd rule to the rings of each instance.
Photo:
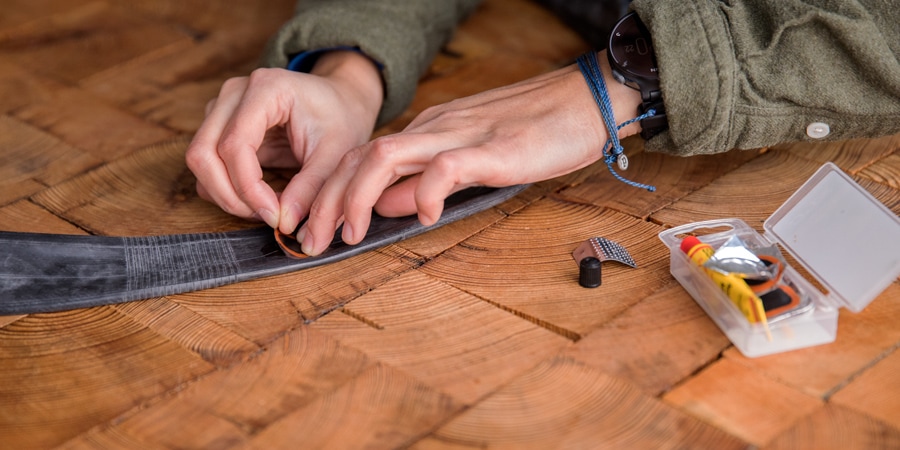
[[[763,224],[828,295],[853,312],[900,276],[900,218],[833,163]]]

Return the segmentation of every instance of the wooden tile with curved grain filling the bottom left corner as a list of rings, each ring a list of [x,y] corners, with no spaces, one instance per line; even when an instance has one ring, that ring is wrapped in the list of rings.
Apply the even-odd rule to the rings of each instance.
[[[112,308],[31,315],[0,328],[0,435],[58,445],[213,370]]]

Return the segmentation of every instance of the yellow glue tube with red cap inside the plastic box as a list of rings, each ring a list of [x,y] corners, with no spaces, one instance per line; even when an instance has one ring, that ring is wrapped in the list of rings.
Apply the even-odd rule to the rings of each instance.
[[[753,289],[750,289],[747,282],[737,275],[724,274],[704,267],[706,261],[715,253],[709,244],[701,242],[694,236],[688,236],[681,241],[681,251],[686,253],[694,264],[703,269],[703,272],[725,292],[725,295],[731,299],[731,302],[738,307],[738,310],[750,323],[762,323],[766,330],[766,336],[772,340],[762,300],[753,292]]]

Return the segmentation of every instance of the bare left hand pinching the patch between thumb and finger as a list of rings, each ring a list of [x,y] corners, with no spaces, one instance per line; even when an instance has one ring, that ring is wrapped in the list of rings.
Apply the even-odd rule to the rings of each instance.
[[[321,56],[309,74],[258,69],[229,79],[185,155],[197,192],[293,232],[344,153],[370,138],[382,97],[378,69],[351,51]],[[300,170],[279,197],[262,167]]]

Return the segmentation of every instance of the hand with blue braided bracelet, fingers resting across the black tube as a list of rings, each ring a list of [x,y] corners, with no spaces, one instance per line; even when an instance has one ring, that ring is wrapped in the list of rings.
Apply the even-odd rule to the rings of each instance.
[[[640,93],[600,64],[616,120],[633,118]],[[620,137],[640,131],[635,123]],[[438,221],[461,189],[530,183],[564,175],[602,156],[608,133],[577,66],[432,107],[401,133],[354,148],[341,160],[298,232],[302,250],[324,251],[343,220],[342,239],[360,242],[372,210]]]

